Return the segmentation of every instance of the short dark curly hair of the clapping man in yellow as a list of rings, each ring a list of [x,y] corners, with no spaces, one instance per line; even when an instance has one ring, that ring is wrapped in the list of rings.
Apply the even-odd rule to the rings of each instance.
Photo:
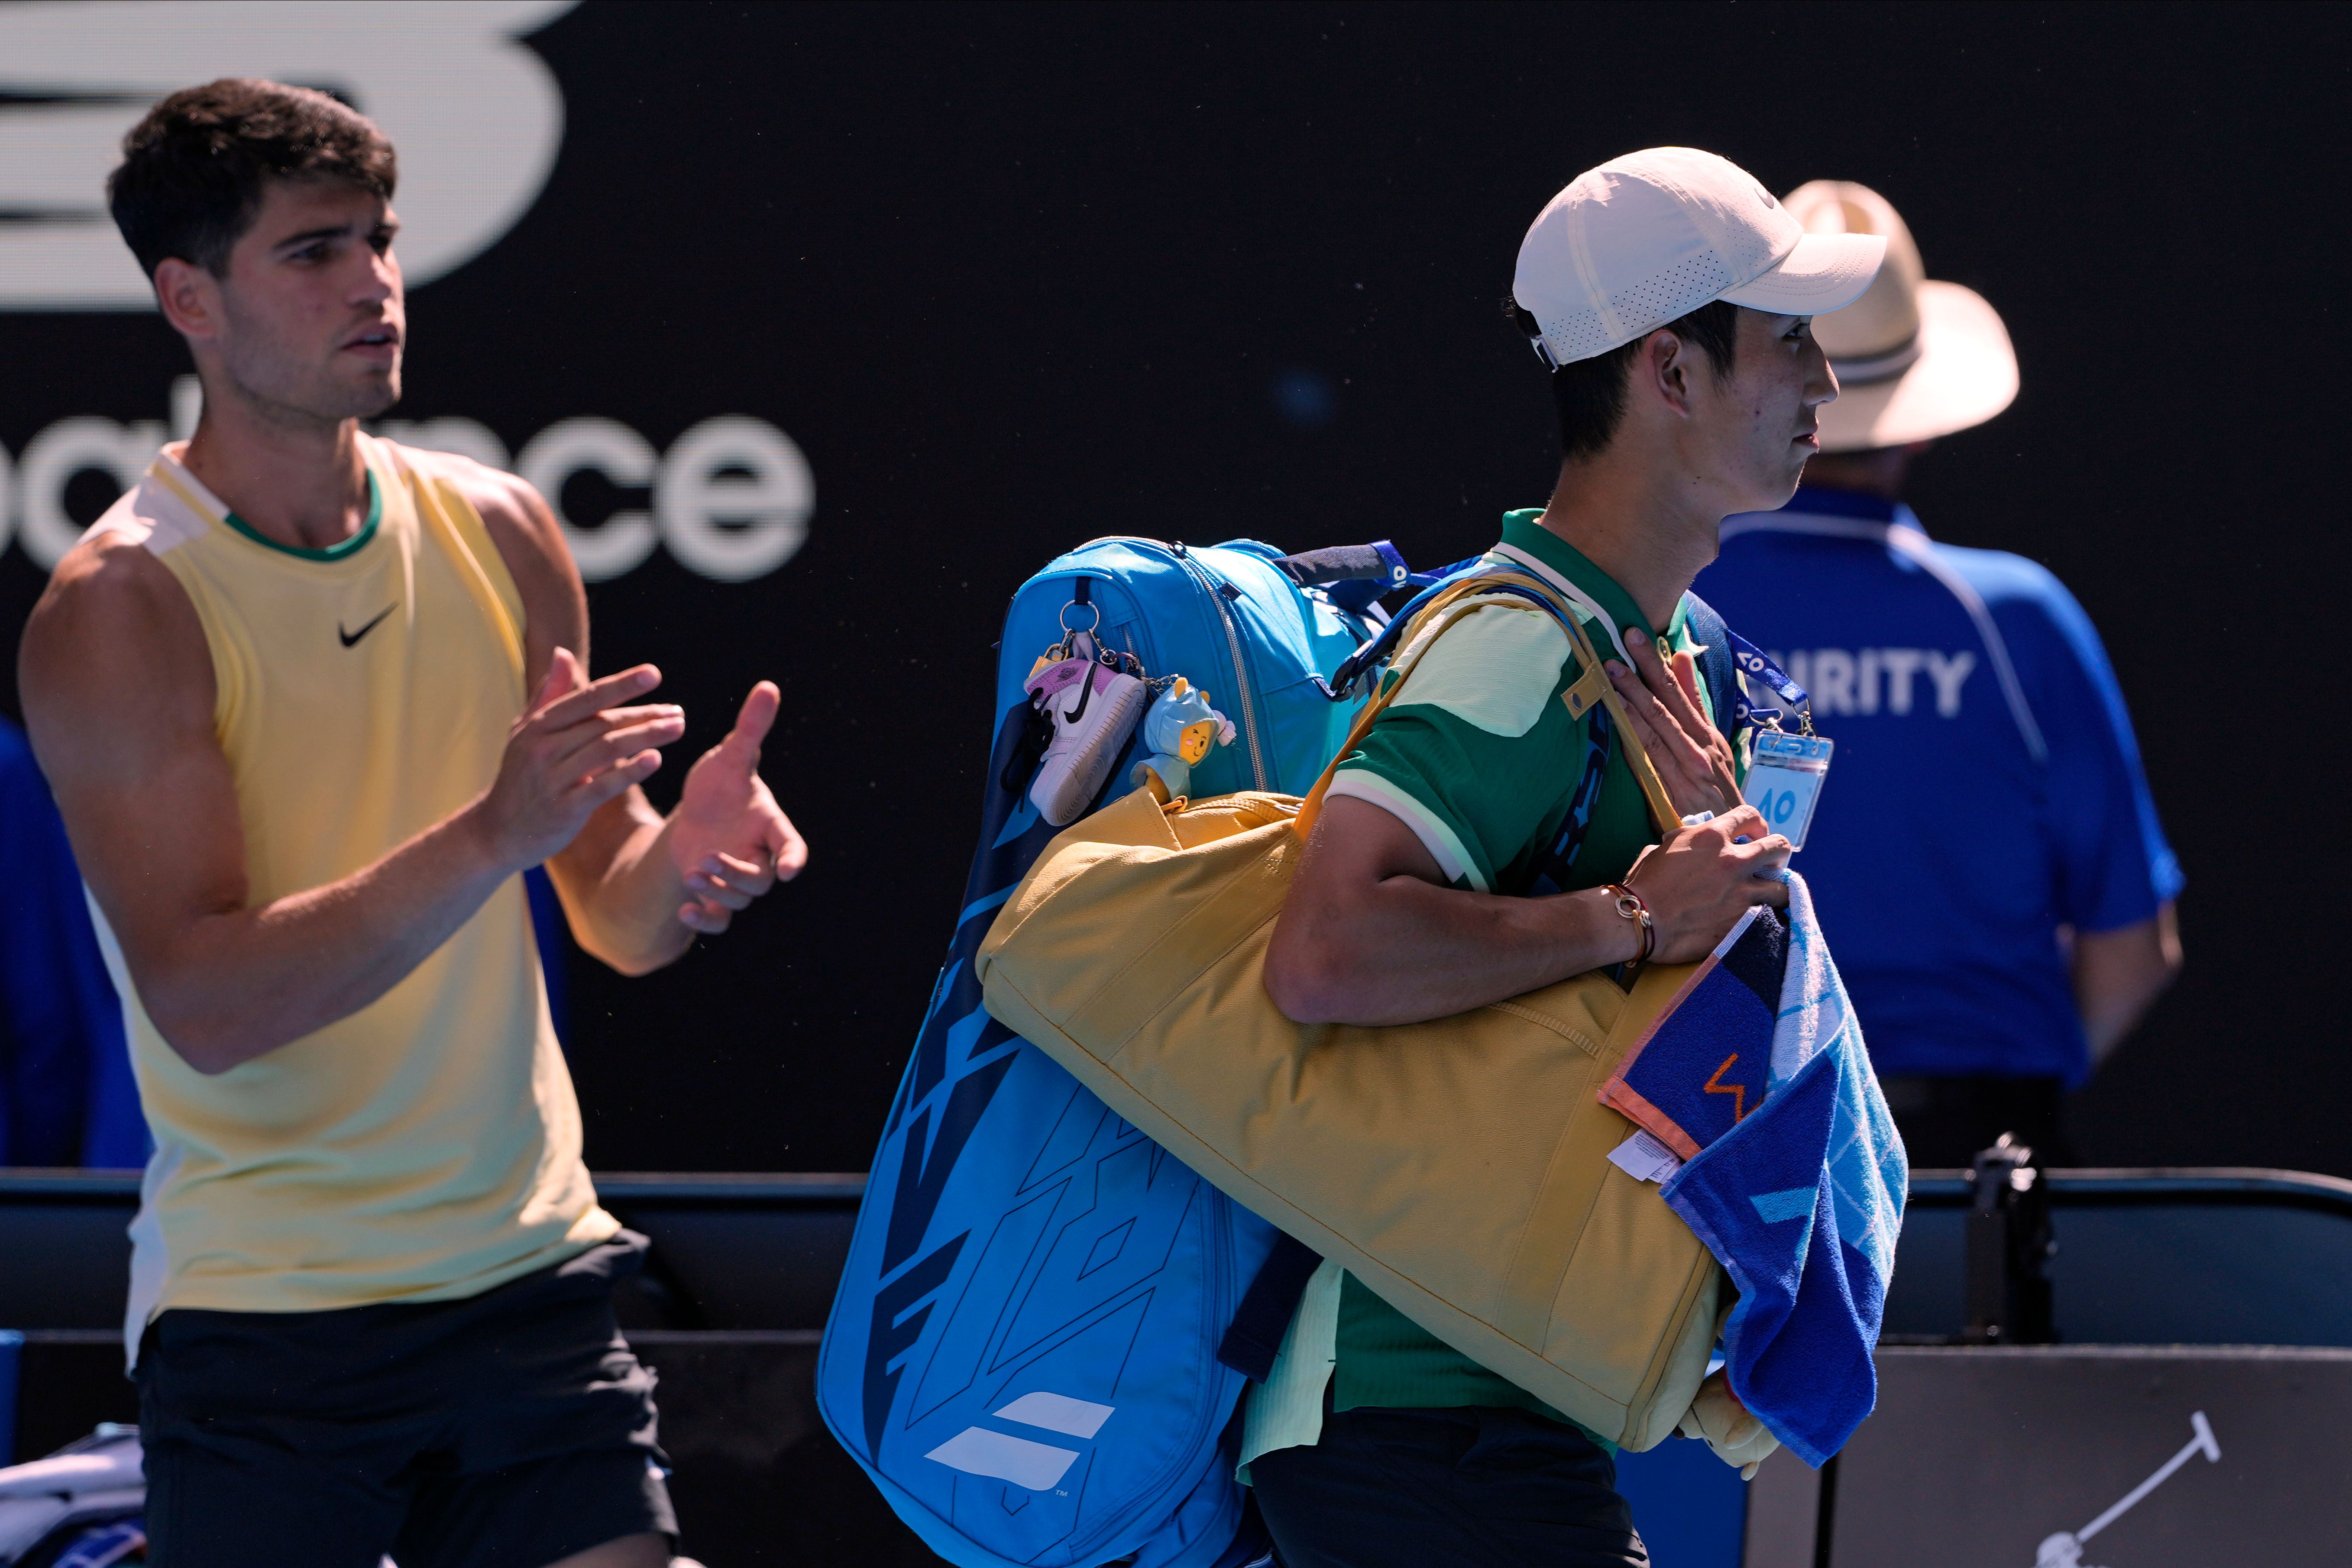
[[[360,110],[308,87],[221,78],[183,87],[122,136],[106,205],[153,277],[165,256],[228,275],[228,252],[273,179],[327,179],[393,197],[393,143]]]

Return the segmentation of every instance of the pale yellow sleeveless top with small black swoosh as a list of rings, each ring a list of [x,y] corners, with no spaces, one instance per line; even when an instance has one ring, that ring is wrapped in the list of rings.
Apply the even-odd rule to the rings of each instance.
[[[205,625],[249,903],[348,877],[496,776],[522,710],[522,597],[445,458],[360,437],[369,524],[263,541],[165,447],[99,520]],[[158,802],[167,811],[169,802]],[[125,1333],[167,1307],[313,1312],[475,1295],[607,1239],[515,877],[400,985],[205,1077],[99,922],[155,1135]]]

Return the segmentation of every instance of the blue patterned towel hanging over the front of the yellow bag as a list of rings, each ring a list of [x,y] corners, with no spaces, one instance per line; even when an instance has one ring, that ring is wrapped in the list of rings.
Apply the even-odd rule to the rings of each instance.
[[[1879,1396],[1910,1161],[1804,879],[1708,954],[1602,1098],[1672,1147],[1661,1190],[1740,1291],[1731,1392],[1806,1465]]]

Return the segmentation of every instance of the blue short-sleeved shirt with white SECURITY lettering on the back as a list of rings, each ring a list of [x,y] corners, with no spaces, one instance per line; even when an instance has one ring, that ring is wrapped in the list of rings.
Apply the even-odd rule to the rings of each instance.
[[[2074,595],[1825,489],[1726,520],[1696,590],[1837,741],[1797,870],[1877,1070],[2079,1084],[2058,929],[2152,919],[2183,879]]]

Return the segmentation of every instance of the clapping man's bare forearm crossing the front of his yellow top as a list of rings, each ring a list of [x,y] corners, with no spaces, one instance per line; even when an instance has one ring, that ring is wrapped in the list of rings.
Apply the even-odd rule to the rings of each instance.
[[[393,990],[513,875],[468,806],[341,882],[139,943],[132,976],[172,1048],[228,1072]]]

